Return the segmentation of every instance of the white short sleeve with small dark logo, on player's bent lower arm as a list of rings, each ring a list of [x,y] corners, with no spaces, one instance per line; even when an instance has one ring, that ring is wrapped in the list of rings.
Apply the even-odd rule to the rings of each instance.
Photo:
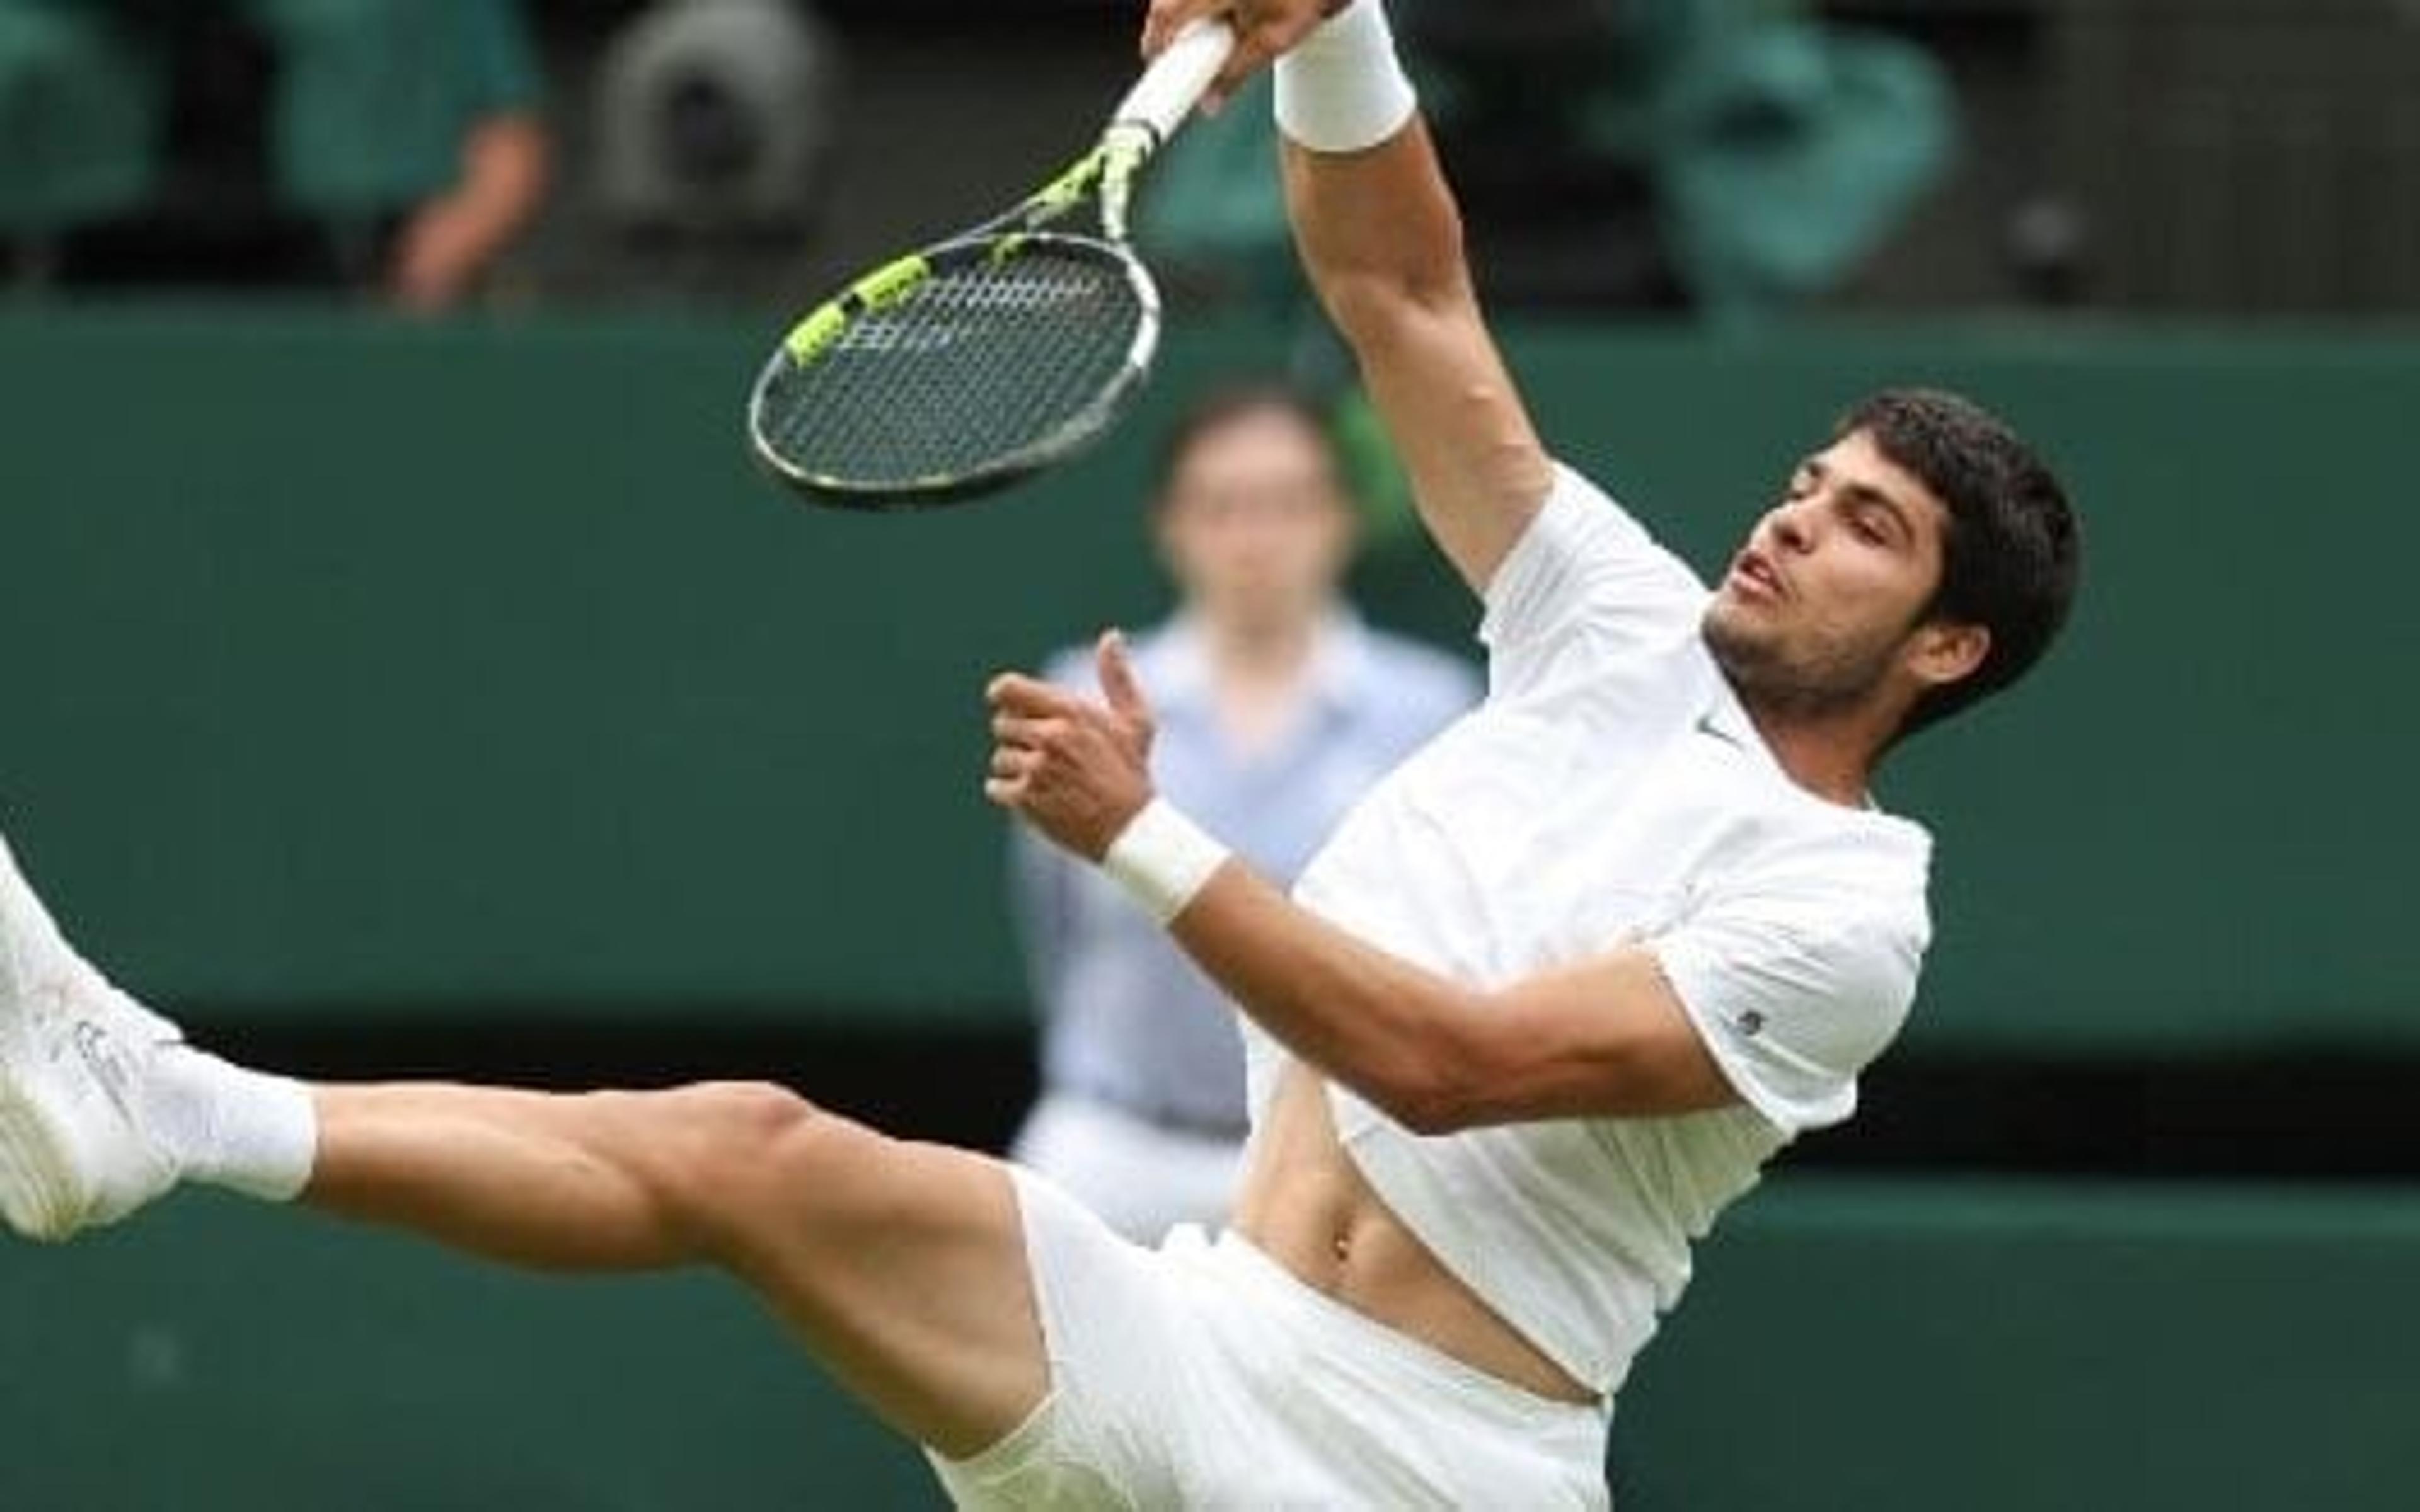
[[[1648,943],[1740,1098],[1798,1135],[1856,1110],[1859,1072],[1907,1021],[1926,931],[1921,905],[1750,893]]]

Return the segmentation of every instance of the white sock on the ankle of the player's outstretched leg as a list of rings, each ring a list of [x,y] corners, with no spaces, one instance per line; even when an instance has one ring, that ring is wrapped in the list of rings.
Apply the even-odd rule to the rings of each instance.
[[[186,1181],[269,1202],[290,1202],[310,1181],[319,1113],[300,1081],[165,1045],[148,1093],[145,1123]]]

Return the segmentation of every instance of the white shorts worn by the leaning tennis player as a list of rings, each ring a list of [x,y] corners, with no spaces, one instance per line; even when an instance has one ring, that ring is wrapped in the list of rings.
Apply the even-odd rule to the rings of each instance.
[[[1532,1396],[1195,1227],[1157,1251],[1016,1171],[1050,1396],[958,1507],[1607,1507],[1609,1415]]]

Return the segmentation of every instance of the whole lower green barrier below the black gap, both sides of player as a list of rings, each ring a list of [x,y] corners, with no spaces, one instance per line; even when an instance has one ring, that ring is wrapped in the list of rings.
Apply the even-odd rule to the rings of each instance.
[[[2420,1198],[1784,1176],[1617,1413],[1621,1512],[2401,1512]],[[709,1277],[179,1198],[0,1243],[0,1507],[937,1507]]]

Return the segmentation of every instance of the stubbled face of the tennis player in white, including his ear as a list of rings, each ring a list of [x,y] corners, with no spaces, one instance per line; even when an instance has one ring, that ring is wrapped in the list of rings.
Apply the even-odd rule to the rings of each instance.
[[[1800,462],[1706,607],[1706,644],[1740,697],[1839,714],[1972,670],[1977,627],[1917,624],[1946,527],[1931,489],[1863,431]]]

